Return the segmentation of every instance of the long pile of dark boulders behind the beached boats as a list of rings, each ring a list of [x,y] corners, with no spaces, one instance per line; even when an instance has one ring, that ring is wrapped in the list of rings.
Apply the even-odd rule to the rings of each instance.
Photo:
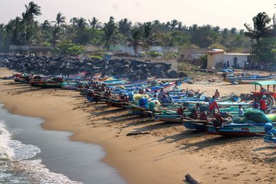
[[[121,76],[125,74],[130,80],[146,79],[149,76],[159,78],[184,77],[184,72],[171,70],[168,63],[153,63],[151,61],[137,61],[126,59],[111,59],[110,61],[97,59],[79,59],[77,57],[46,57],[20,54],[0,54],[0,67],[6,67],[19,72],[33,74],[75,74],[88,71],[101,72],[107,76]]]

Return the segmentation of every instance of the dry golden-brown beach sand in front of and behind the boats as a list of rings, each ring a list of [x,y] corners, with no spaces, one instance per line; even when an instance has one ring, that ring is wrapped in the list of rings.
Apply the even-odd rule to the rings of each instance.
[[[0,68],[0,76],[11,72]],[[251,85],[196,83],[213,94],[250,92]],[[79,92],[30,88],[0,80],[0,102],[16,114],[45,119],[46,130],[73,132],[70,139],[102,145],[104,162],[128,183],[184,183],[189,173],[202,183],[276,183],[276,150],[260,139],[224,138],[191,132],[183,125],[130,116],[105,104],[85,103]],[[132,131],[150,134],[126,136]]]

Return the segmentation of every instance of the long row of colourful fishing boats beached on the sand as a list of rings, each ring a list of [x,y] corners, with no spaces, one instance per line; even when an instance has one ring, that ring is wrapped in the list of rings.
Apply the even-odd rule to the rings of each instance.
[[[187,129],[206,131],[221,136],[266,135],[265,125],[276,127],[275,114],[252,110],[253,101],[242,101],[239,96],[229,94],[217,99],[220,112],[209,114],[209,96],[193,90],[182,90],[177,81],[158,81],[151,77],[140,81],[115,79],[112,76],[101,78],[101,74],[88,76],[87,72],[72,76],[28,76],[14,74],[14,81],[30,83],[40,88],[63,88],[81,90],[88,101],[103,102],[115,108],[124,108],[129,114],[149,115],[152,119],[170,123],[183,123]],[[265,82],[254,83],[264,85]],[[276,83],[269,82],[269,85]],[[238,117],[238,106],[244,108],[245,117]],[[248,118],[247,114],[257,116]],[[253,115],[252,115],[253,114]],[[266,119],[265,121],[258,121]],[[266,137],[270,139],[270,137]],[[273,137],[274,139],[274,137]],[[270,139],[270,141],[273,139]]]

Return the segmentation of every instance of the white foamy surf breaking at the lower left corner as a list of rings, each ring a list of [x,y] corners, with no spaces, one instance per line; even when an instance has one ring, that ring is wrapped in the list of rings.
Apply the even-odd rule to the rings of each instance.
[[[41,160],[28,160],[41,150],[12,139],[0,120],[0,183],[78,183],[67,176],[50,172]]]

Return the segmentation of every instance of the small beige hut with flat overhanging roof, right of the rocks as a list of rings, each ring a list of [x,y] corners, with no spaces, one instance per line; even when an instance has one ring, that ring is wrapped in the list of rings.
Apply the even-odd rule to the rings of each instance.
[[[223,68],[224,50],[213,49],[207,52],[207,68]]]

